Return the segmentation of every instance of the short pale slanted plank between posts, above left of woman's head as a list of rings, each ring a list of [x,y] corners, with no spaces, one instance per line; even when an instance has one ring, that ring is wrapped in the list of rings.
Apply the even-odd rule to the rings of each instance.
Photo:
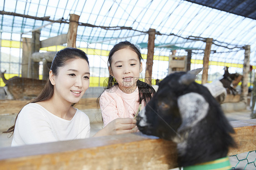
[[[53,45],[62,45],[67,43],[67,34],[58,35],[56,37],[51,37],[46,40],[41,41],[41,48],[53,46]]]

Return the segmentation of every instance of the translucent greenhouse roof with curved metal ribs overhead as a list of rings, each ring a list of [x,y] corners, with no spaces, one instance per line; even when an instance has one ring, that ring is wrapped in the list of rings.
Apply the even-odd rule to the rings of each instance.
[[[156,30],[156,50],[193,50],[210,60],[243,63],[251,45],[256,65],[255,0],[0,0],[1,39],[20,40],[41,30],[41,40],[67,34],[69,14],[80,16],[77,47],[110,50],[122,40],[145,48]]]

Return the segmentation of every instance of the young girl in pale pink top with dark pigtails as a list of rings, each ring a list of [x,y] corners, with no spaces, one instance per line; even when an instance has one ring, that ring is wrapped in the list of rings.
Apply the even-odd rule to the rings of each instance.
[[[100,96],[104,126],[117,118],[133,118],[155,90],[138,80],[142,71],[140,50],[128,41],[114,45],[108,55],[108,88]]]

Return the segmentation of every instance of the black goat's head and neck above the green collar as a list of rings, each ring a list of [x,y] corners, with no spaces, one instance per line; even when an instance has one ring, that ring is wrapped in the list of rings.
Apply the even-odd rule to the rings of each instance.
[[[220,104],[194,81],[200,71],[168,75],[137,117],[142,133],[177,143],[180,167],[224,158],[235,146],[230,135],[234,130]]]

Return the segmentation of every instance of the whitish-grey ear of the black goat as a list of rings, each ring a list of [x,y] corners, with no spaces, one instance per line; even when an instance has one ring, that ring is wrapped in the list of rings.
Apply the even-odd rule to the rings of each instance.
[[[202,120],[208,112],[209,103],[198,93],[188,93],[178,98],[179,112],[182,124],[179,130],[189,128]]]

